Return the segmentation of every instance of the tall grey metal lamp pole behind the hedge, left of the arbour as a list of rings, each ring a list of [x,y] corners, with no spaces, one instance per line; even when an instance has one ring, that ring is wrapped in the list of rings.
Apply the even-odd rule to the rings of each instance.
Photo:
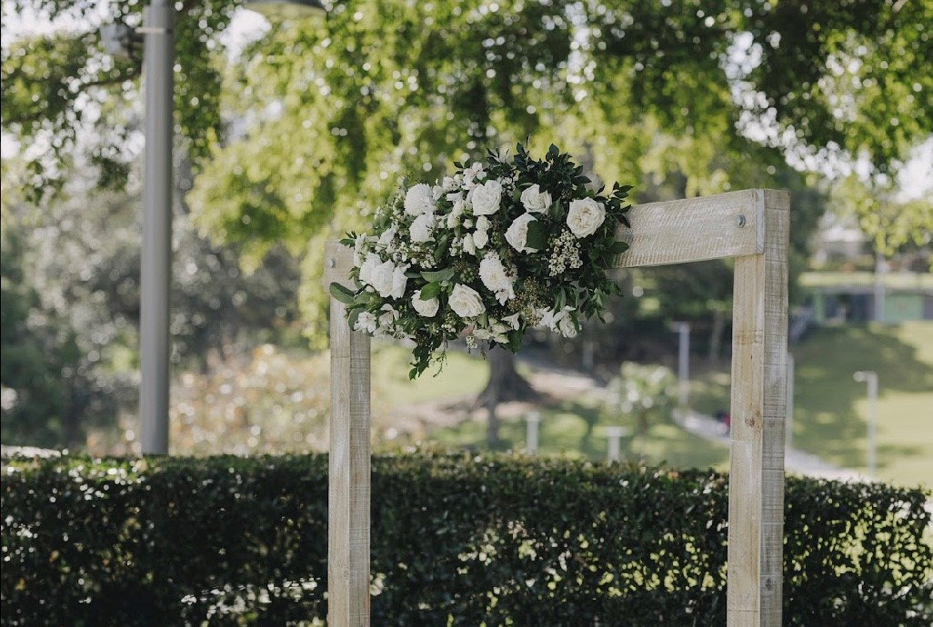
[[[144,454],[169,451],[169,307],[172,278],[174,11],[168,0],[146,7],[143,52],[146,153],[140,278],[140,442]]]

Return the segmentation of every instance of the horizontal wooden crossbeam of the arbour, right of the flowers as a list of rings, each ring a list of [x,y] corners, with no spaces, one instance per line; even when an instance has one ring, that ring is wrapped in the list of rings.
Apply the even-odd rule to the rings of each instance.
[[[616,267],[668,266],[764,252],[764,190],[635,205]]]

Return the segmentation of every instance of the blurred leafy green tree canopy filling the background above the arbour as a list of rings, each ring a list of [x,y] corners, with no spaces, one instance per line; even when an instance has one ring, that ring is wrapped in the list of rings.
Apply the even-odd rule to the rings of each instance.
[[[844,200],[845,211],[878,250],[925,245],[915,235],[928,225],[928,204],[897,211],[890,192],[912,148],[933,133],[931,3],[360,0],[332,3],[325,20],[275,23],[244,45],[230,36],[239,6],[176,6],[178,360],[206,363],[247,328],[291,328],[294,289],[303,324],[323,336],[323,241],[365,226],[400,175],[433,180],[453,160],[529,136],[533,150],[558,143],[601,180],[635,184],[639,202],[789,187],[795,268],[824,211],[825,182],[856,170],[864,193],[843,184],[833,198],[861,200]],[[97,307],[87,319],[113,322],[116,330],[96,335],[100,347],[131,350],[138,236],[127,216],[137,204],[132,164],[143,140],[141,57],[107,54],[99,28],[112,20],[139,26],[142,8],[118,0],[2,5],[2,129],[16,146],[4,153],[5,202],[17,190],[48,229],[45,243],[23,244],[23,258],[49,242],[65,250],[76,237],[78,227],[65,229],[67,216],[56,212],[61,203],[119,205],[122,223],[85,222],[83,213],[77,220],[90,229],[85,241],[102,249],[85,247],[83,266],[63,256],[54,270],[35,268],[71,281],[62,293],[86,291]],[[57,27],[16,32],[28,20]],[[94,183],[69,194],[75,177]],[[126,230],[110,234],[118,223]],[[727,267],[653,272],[620,277],[650,288],[637,307],[621,299],[613,323],[625,342],[637,335],[645,345],[610,357],[673,342],[665,322],[703,316],[715,356],[731,307]],[[24,280],[45,303],[56,293]],[[35,302],[27,292],[18,293],[22,302]],[[68,308],[84,297],[72,295]],[[58,337],[48,320],[29,333]],[[84,338],[85,327],[77,334]],[[119,352],[100,347],[80,352]],[[132,371],[134,359],[122,365]]]

